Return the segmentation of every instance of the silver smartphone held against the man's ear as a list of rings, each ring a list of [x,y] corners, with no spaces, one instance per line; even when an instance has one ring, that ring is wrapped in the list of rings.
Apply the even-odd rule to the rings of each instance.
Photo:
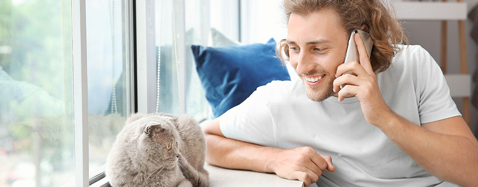
[[[360,38],[362,38],[363,43],[365,44],[365,50],[367,51],[368,58],[370,58],[370,54],[372,53],[372,38],[370,38],[370,34],[362,31],[362,30],[354,30],[350,34],[349,44],[347,46],[347,52],[345,52],[345,59],[344,63],[357,61],[359,62],[359,53],[357,49],[357,44],[355,43],[354,35],[358,33]],[[346,72],[344,74],[353,74],[352,71]],[[342,89],[345,85],[340,85],[340,89]]]

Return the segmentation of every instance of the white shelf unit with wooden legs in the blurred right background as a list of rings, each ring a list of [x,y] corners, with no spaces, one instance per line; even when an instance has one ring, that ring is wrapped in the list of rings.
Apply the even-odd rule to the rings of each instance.
[[[391,1],[395,13],[400,20],[430,20],[441,21],[440,67],[450,88],[453,98],[462,98],[462,116],[471,128],[470,103],[471,76],[468,74],[466,60],[465,20],[467,19],[467,4],[463,0],[456,2],[403,2]],[[459,66],[460,74],[447,74],[447,22],[458,21]]]

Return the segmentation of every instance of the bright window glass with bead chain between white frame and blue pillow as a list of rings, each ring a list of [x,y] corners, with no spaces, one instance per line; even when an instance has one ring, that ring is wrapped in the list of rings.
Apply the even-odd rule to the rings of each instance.
[[[176,47],[185,48],[186,54],[181,54],[178,50],[178,58],[185,55],[185,70],[177,71],[175,41],[173,40],[173,5],[171,1],[155,2],[155,21],[156,21],[156,56],[158,50],[161,50],[160,59],[160,99],[159,112],[179,115],[181,108],[179,104],[179,93],[185,96],[185,108],[183,112],[194,116],[197,121],[202,121],[208,117],[208,104],[204,91],[201,86],[198,74],[196,72],[196,64],[191,51],[191,45],[207,45],[207,34],[209,32],[204,17],[205,1],[187,0],[184,2],[184,15],[178,13],[179,4],[174,5],[175,11],[175,30],[179,38],[184,39],[184,43],[176,41]],[[162,17],[160,16],[162,15]],[[183,27],[178,27],[180,23],[185,22]],[[161,23],[161,24],[160,24]],[[179,32],[179,29],[184,31]],[[204,35],[204,33],[206,33]],[[183,36],[184,35],[184,36]],[[205,37],[205,38],[204,38]],[[185,46],[186,44],[186,46]],[[161,49],[160,47],[161,46]],[[157,58],[157,57],[156,57]],[[156,59],[157,61],[157,59]],[[157,65],[157,62],[156,62]],[[181,68],[181,66],[179,65]],[[184,77],[184,90],[178,90],[178,72],[179,77]]]

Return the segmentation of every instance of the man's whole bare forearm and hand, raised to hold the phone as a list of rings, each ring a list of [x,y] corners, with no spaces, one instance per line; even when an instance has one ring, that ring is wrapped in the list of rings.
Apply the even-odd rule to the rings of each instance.
[[[380,94],[362,39],[358,34],[354,37],[360,63],[348,62],[337,68],[334,92],[339,92],[339,101],[345,96],[355,95],[365,119],[420,166],[440,179],[475,186],[478,182],[474,177],[478,165],[478,142],[463,118],[454,116],[419,126],[393,113]],[[348,71],[357,76],[342,75]],[[339,86],[343,84],[348,85],[340,90]],[[456,168],[460,168],[460,172],[456,172]]]

